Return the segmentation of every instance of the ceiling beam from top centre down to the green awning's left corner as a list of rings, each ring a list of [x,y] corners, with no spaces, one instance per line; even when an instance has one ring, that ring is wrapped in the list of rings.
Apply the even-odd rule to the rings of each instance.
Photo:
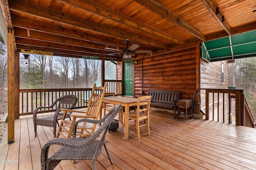
[[[171,21],[172,23],[184,29],[188,33],[205,41],[205,35],[203,33],[198,31],[196,28],[194,28],[192,25],[190,25],[186,21],[182,20],[182,18],[174,14],[171,10],[169,10],[167,7],[160,4],[158,1],[156,0],[134,0],[134,1],[142,6],[145,6],[152,12],[155,12],[156,14],[162,16],[166,20]]]

